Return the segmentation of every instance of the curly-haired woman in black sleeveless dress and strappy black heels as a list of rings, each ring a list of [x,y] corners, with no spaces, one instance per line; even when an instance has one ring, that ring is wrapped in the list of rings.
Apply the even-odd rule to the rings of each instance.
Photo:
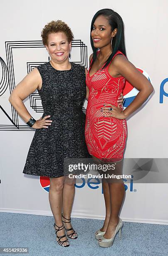
[[[70,223],[75,179],[65,174],[64,159],[90,157],[84,138],[85,114],[82,111],[87,98],[87,69],[69,62],[72,39],[72,31],[66,23],[61,20],[48,23],[42,30],[42,40],[51,61],[27,74],[9,98],[21,118],[36,129],[23,173],[50,178],[49,203],[55,219],[57,242],[66,247],[69,246],[67,236],[76,239],[77,233]],[[36,89],[44,109],[39,120],[31,117],[23,103]]]

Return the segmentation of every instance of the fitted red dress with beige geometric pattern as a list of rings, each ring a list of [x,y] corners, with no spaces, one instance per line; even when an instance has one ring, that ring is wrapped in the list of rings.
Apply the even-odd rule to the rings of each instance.
[[[121,51],[117,51],[114,57],[117,54],[124,55]],[[89,154],[101,161],[114,162],[123,159],[127,137],[126,119],[107,117],[106,113],[101,112],[101,107],[109,103],[117,107],[125,78],[111,77],[108,72],[109,65],[98,70],[91,77],[89,72],[86,75],[89,98],[86,109],[85,140]]]

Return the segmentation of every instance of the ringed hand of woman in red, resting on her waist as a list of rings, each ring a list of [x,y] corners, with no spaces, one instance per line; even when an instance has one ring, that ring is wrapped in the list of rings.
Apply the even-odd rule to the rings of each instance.
[[[105,117],[114,117],[118,119],[125,119],[123,110],[121,107],[116,107],[112,104],[105,104],[103,108],[101,108],[101,112],[104,112]]]

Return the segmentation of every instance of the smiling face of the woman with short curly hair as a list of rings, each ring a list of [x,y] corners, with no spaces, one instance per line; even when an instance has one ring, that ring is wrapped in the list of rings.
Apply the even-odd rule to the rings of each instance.
[[[46,48],[51,59],[60,63],[69,58],[71,42],[68,42],[64,32],[51,33],[48,35]]]

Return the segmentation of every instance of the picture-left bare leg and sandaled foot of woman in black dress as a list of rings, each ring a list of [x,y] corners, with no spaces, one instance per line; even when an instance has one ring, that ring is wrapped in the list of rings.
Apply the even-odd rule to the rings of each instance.
[[[62,223],[62,195],[64,188],[65,177],[50,178],[49,186],[49,204],[52,210],[52,214],[55,219],[55,224],[58,227],[63,225]],[[58,229],[58,228],[57,228]],[[64,236],[65,230],[62,229],[57,232],[57,236]],[[67,240],[67,237],[61,238],[61,241]],[[58,241],[58,238],[57,238]],[[64,242],[62,245],[66,246],[69,242]]]

